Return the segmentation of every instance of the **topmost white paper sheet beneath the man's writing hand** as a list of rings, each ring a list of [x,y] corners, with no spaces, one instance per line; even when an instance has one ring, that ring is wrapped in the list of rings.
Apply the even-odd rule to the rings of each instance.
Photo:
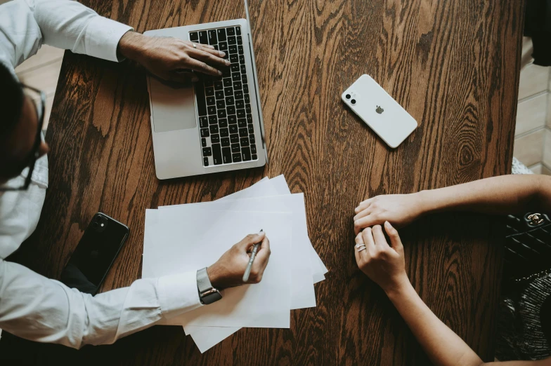
[[[228,289],[223,299],[177,317],[181,325],[290,327],[292,215],[285,212],[159,210],[155,250],[145,251],[148,277],[209,266],[247,233],[264,229],[271,240],[270,264],[261,283]],[[215,229],[213,229],[215,228]],[[231,244],[228,244],[231,243]],[[251,309],[254,309],[253,311]]]

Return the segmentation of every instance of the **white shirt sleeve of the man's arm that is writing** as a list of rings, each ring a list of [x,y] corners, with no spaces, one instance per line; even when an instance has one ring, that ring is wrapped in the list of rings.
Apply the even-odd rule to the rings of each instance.
[[[195,271],[136,280],[92,297],[0,259],[0,327],[32,341],[112,344],[199,306]]]

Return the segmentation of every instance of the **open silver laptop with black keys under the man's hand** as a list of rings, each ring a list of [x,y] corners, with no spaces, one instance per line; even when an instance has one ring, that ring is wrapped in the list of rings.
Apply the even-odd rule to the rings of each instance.
[[[148,75],[155,171],[159,179],[266,165],[257,67],[247,20],[236,19],[145,32],[206,43],[226,53],[220,77],[171,86]]]

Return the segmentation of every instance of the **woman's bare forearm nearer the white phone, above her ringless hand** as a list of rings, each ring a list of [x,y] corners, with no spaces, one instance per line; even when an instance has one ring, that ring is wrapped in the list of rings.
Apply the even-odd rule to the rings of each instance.
[[[502,175],[420,191],[426,213],[462,210],[496,215],[530,211],[551,212],[551,177],[546,175]]]

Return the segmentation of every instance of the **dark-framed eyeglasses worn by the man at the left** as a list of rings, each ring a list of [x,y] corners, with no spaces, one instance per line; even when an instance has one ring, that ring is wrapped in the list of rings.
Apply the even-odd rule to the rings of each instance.
[[[29,168],[29,172],[27,174],[27,178],[25,178],[25,183],[20,187],[0,187],[1,191],[26,191],[29,189],[29,186],[31,184],[31,177],[32,172],[34,170],[34,165],[37,163],[37,159],[39,158],[39,147],[42,142],[42,128],[44,128],[44,109],[46,106],[46,94],[38,89],[32,88],[31,86],[26,86],[25,84],[21,84],[21,88],[23,89],[23,93],[27,95],[27,97],[32,100],[34,104],[34,108],[37,111],[37,135],[34,137],[34,144],[32,145],[32,150],[29,152],[27,157],[22,160],[22,166],[20,167],[20,170],[23,170],[25,168]]]

